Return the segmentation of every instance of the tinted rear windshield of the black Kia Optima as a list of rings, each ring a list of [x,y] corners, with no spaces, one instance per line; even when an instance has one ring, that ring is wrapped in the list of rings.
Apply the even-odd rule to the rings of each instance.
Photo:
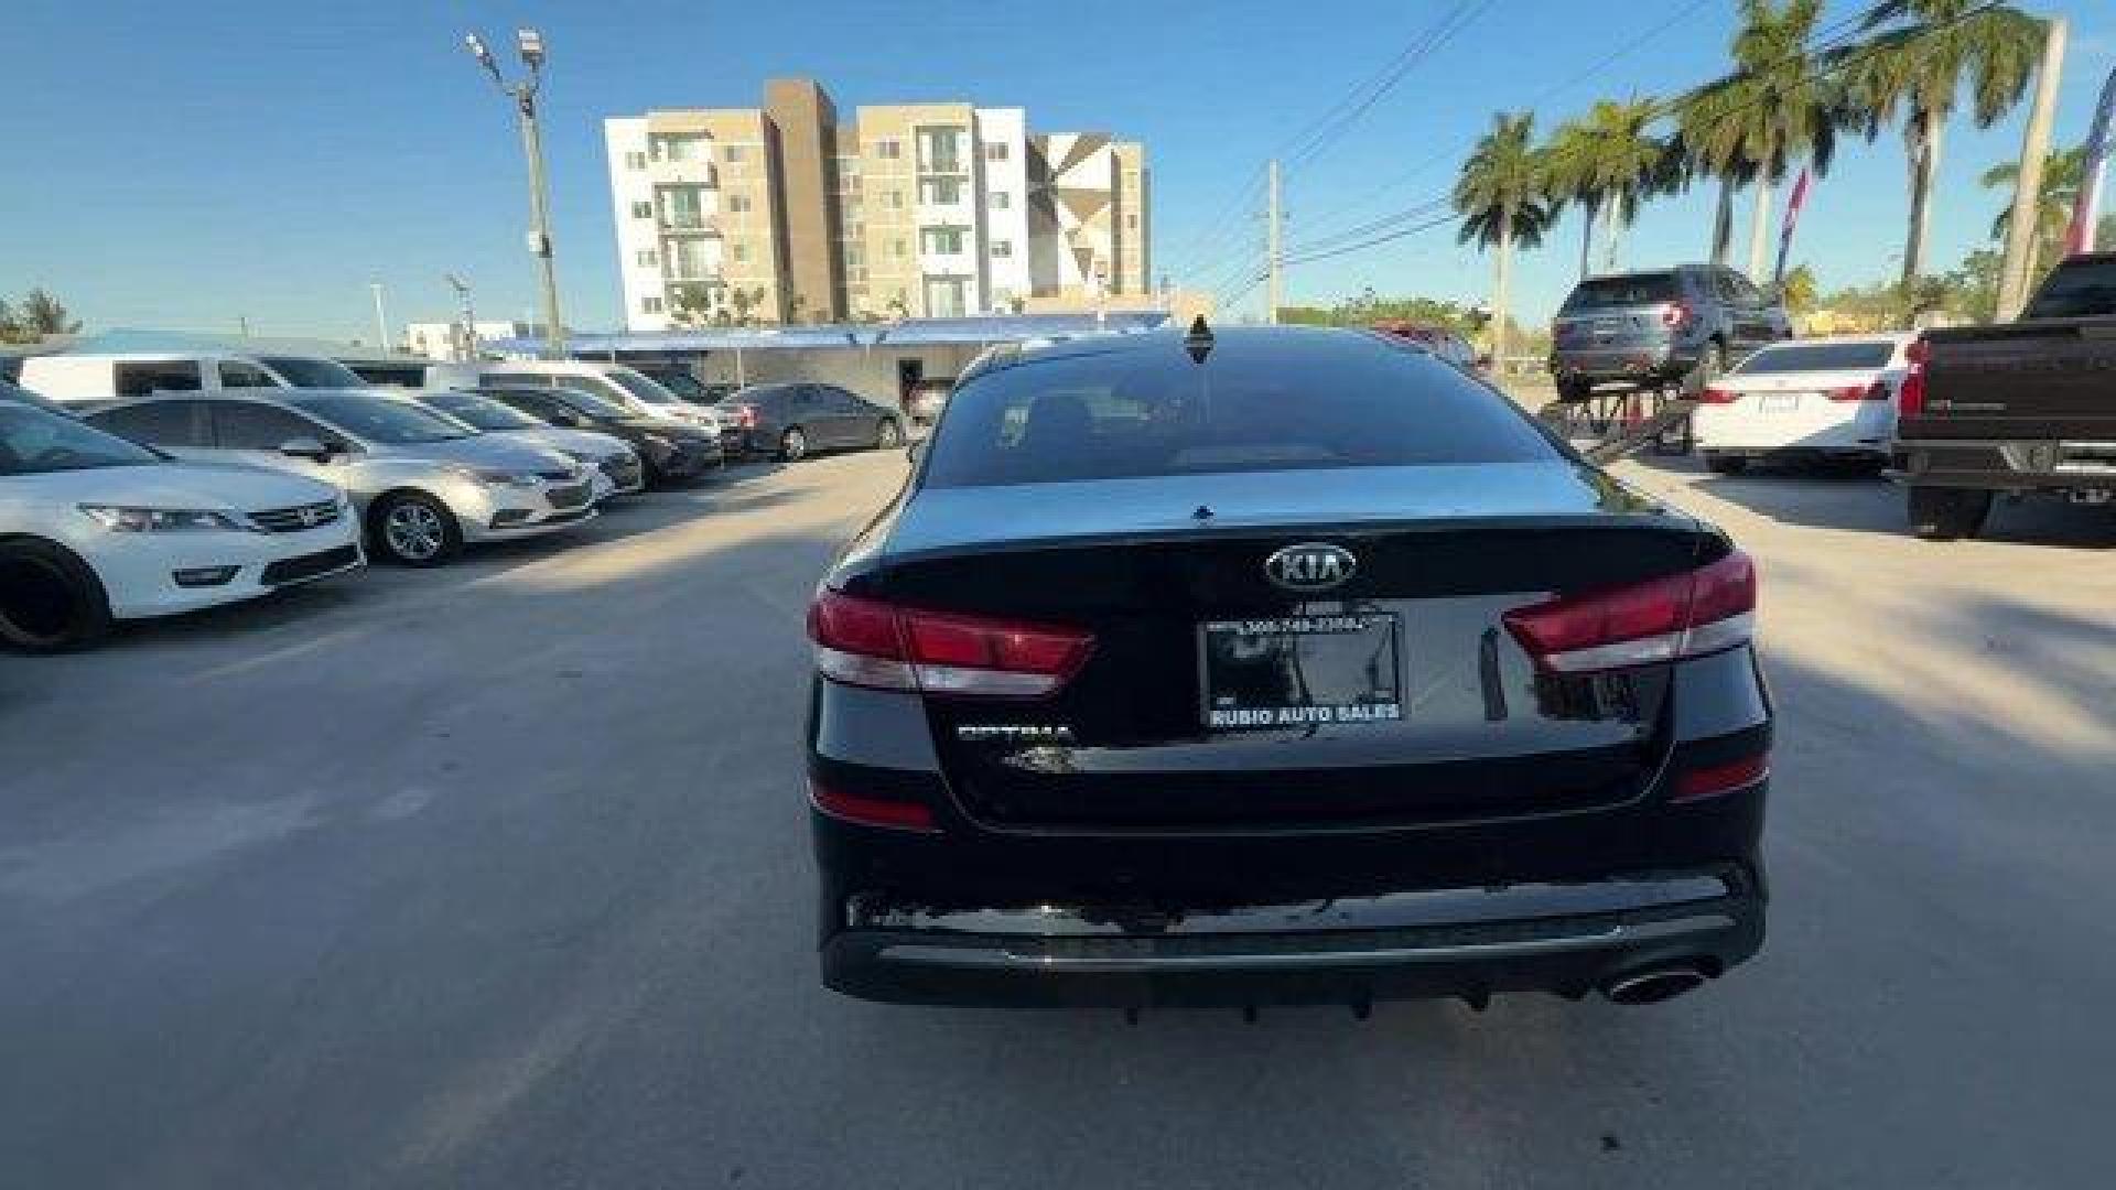
[[[929,487],[1557,457],[1496,392],[1380,339],[1056,356],[948,400]]]

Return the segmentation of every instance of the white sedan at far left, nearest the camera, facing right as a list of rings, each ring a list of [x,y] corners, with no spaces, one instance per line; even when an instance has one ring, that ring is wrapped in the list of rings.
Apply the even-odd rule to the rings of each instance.
[[[0,396],[0,642],[95,644],[169,616],[364,565],[343,491],[176,464],[63,413]]]

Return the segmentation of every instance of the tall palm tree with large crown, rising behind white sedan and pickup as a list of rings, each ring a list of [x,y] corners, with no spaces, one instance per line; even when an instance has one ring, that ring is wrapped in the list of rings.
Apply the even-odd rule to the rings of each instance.
[[[1843,59],[1868,140],[1902,112],[1911,165],[1911,227],[1902,248],[1902,282],[1909,284],[1926,271],[1932,178],[1962,83],[1970,85],[1976,127],[1998,123],[2036,76],[2044,25],[2010,4],[1883,0],[1866,15],[1864,28],[1881,34],[1845,51]]]

